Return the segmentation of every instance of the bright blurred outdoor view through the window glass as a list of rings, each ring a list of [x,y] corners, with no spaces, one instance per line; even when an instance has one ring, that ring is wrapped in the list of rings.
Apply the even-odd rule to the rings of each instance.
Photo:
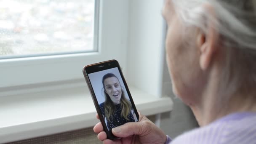
[[[93,51],[95,0],[0,0],[0,58]]]

